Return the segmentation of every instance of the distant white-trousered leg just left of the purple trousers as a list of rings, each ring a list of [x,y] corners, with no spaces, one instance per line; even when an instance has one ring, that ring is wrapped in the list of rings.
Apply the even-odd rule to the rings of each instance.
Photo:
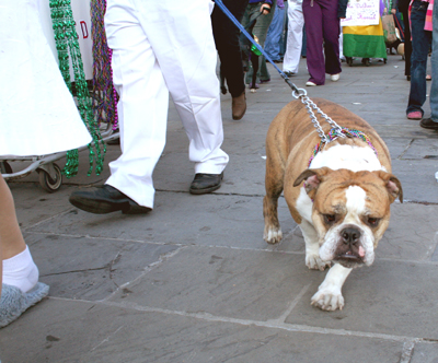
[[[283,71],[286,75],[298,73],[302,47],[302,27],[304,16],[302,14],[302,0],[288,0],[288,34],[286,54],[283,60]]]

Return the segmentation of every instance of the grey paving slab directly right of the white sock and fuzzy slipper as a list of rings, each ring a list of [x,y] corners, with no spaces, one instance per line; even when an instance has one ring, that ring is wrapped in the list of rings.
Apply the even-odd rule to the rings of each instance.
[[[50,296],[97,301],[148,271],[177,249],[172,245],[26,234],[39,281]]]

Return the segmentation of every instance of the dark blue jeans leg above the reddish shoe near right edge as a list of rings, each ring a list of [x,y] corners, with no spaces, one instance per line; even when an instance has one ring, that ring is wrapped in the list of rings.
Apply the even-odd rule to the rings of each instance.
[[[411,91],[406,114],[420,112],[426,102],[426,67],[429,52],[431,32],[425,31],[425,20],[428,2],[414,0],[411,13]]]

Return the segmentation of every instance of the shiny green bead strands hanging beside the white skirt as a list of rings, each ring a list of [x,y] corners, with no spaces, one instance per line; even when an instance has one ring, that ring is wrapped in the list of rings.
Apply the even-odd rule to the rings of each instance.
[[[90,153],[90,169],[88,175],[91,175],[93,171],[94,160],[95,173],[96,175],[100,175],[103,169],[106,145],[102,140],[99,125],[93,115],[92,99],[87,86],[82,56],[79,48],[78,34],[74,28],[76,22],[71,11],[70,0],[50,0],[49,5],[53,28],[55,33],[56,49],[58,51],[59,69],[68,89],[70,90],[71,94],[73,94],[69,66],[69,59],[71,59],[79,114],[81,115],[81,118],[88,127],[93,139],[93,141],[88,145]],[[67,163],[62,169],[62,173],[68,178],[74,176],[78,173],[78,150],[71,150],[67,152]]]

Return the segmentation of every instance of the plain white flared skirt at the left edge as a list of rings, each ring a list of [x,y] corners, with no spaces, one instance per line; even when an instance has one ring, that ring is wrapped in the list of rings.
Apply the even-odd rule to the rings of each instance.
[[[0,0],[0,155],[47,155],[90,142],[37,1]]]

